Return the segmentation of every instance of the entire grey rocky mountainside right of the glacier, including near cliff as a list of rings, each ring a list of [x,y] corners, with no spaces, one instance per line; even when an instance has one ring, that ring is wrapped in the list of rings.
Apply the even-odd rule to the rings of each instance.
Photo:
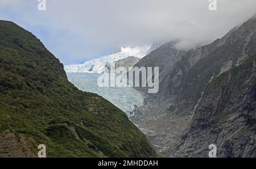
[[[211,143],[218,157],[255,157],[255,98],[247,95],[254,93],[255,16],[209,45],[186,51],[178,43],[162,45],[135,65],[159,66],[160,84],[154,95],[137,88],[146,104],[131,120],[168,157],[206,157]]]

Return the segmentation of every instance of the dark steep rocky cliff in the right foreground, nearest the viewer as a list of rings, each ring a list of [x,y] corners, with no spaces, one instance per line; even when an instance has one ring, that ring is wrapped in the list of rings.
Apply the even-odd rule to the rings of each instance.
[[[256,157],[256,55],[213,78],[190,128],[176,147],[180,157]]]

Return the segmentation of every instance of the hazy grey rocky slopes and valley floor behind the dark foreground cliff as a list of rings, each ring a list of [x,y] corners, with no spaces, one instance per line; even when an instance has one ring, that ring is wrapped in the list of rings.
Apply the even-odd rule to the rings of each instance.
[[[189,156],[187,151],[183,152],[184,149],[175,153],[176,147],[190,126],[196,108],[205,101],[202,96],[208,84],[232,67],[243,64],[255,53],[255,17],[233,28],[221,39],[197,49],[179,51],[175,43],[171,48],[170,43],[162,45],[135,65],[159,66],[160,84],[159,92],[155,95],[148,95],[146,90],[138,89],[146,95],[146,102],[138,108],[131,120],[167,156]],[[204,134],[200,136],[204,137]],[[221,136],[218,139],[221,140]],[[208,146],[203,149],[208,149]],[[196,150],[193,151],[191,153]]]

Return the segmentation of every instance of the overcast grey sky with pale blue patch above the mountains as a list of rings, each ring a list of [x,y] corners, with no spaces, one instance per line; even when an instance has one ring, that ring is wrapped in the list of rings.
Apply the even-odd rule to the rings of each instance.
[[[256,12],[255,0],[0,0],[0,19],[34,33],[64,65],[109,54],[120,46],[181,39],[209,43]],[[1,38],[1,37],[0,37]]]

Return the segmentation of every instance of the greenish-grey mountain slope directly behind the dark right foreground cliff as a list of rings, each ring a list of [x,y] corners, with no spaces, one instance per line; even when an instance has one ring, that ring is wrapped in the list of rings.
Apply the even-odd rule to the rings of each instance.
[[[200,57],[194,64],[189,63],[189,53],[184,56],[168,77],[166,98],[176,97],[173,108],[183,109],[185,113],[193,109],[207,83],[231,67],[240,65],[247,57],[253,56],[256,49],[256,18],[253,17],[240,27],[232,29],[221,40],[214,41],[215,48]],[[203,47],[204,48],[204,47]],[[180,71],[180,72],[179,72]],[[175,78],[179,72],[179,77]],[[177,104],[179,103],[179,104]]]

